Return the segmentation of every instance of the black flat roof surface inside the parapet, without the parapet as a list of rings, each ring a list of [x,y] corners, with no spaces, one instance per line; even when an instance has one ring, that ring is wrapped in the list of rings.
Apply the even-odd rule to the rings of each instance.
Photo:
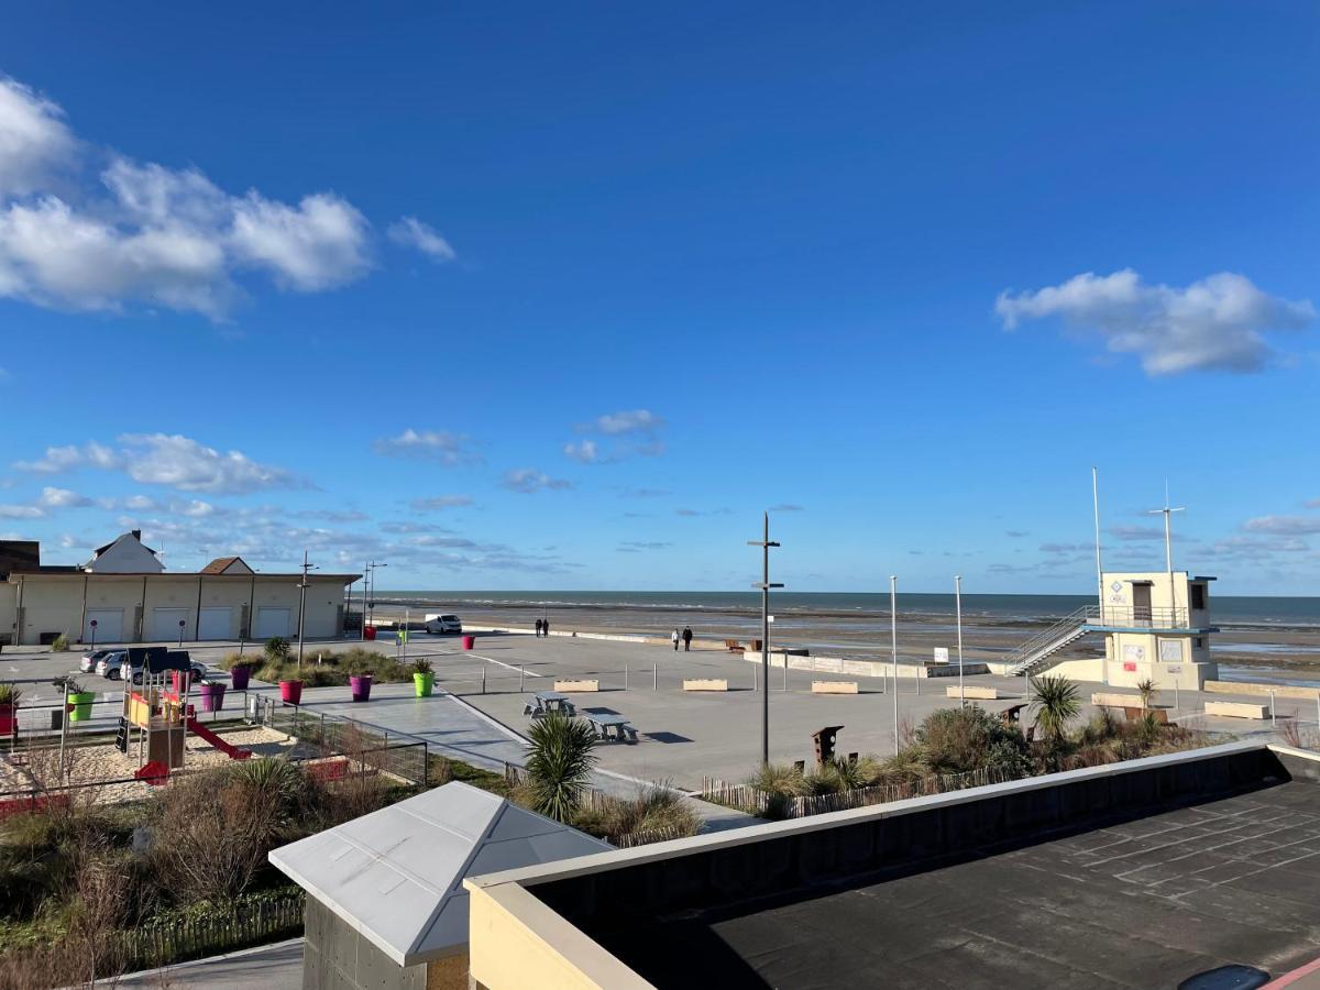
[[[1276,975],[1316,954],[1316,849],[1320,787],[1292,780],[589,935],[659,987],[690,986],[693,966],[710,986],[789,990]]]

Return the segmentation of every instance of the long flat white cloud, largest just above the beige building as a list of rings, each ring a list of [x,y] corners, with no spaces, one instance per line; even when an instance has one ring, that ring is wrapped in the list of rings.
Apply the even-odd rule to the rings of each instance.
[[[36,474],[58,474],[82,467],[120,470],[144,484],[164,484],[180,491],[238,495],[261,488],[301,487],[289,471],[252,461],[238,450],[220,453],[189,437],[168,433],[127,433],[117,450],[100,444],[46,447],[38,461],[20,461],[15,467]],[[143,498],[143,496],[135,496]],[[104,502],[102,504],[106,504]],[[153,508],[154,503],[123,503],[127,508]],[[193,503],[194,507],[206,503]],[[202,512],[205,515],[205,512]]]

